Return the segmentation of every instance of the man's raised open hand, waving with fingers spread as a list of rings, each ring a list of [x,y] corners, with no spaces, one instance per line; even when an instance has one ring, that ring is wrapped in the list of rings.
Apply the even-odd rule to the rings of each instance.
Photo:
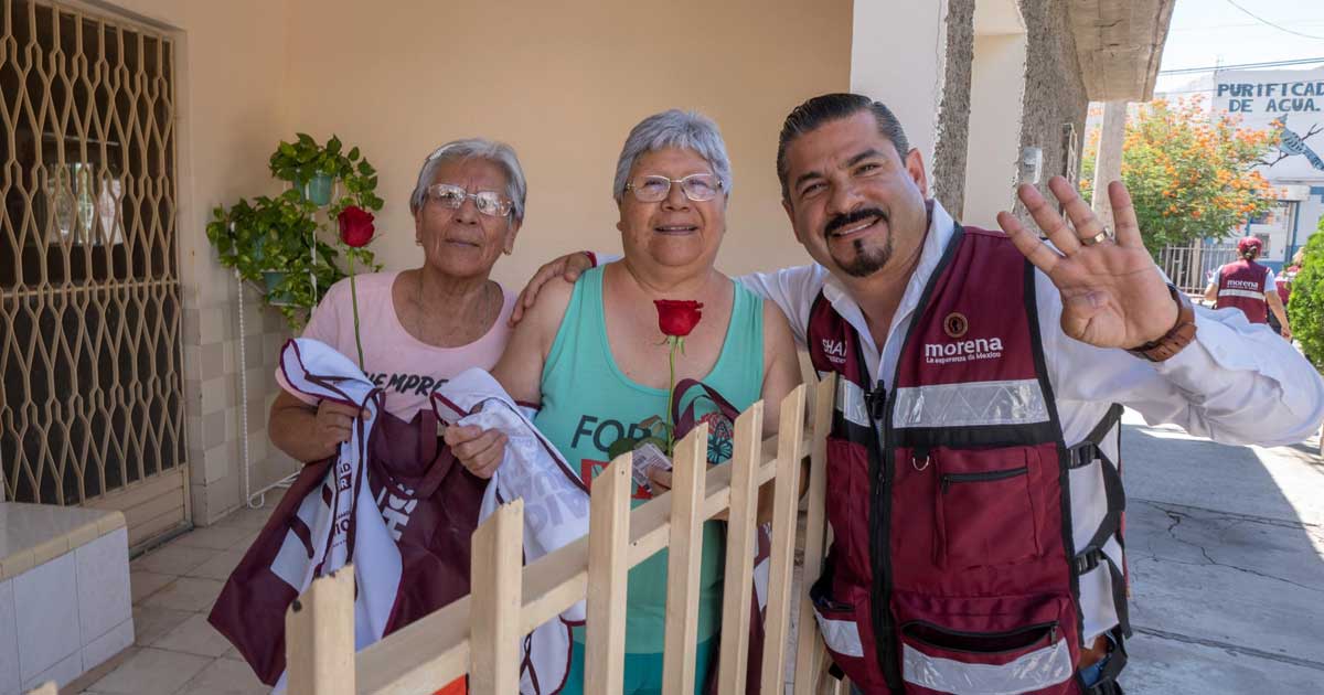
[[[1140,240],[1127,187],[1108,184],[1116,236],[1090,246],[1080,240],[1096,236],[1103,224],[1062,176],[1054,176],[1049,189],[1075,229],[1033,185],[1022,185],[1018,195],[1055,250],[1009,212],[1000,212],[997,222],[1062,293],[1062,332],[1096,347],[1133,348],[1172,330],[1177,303]]]

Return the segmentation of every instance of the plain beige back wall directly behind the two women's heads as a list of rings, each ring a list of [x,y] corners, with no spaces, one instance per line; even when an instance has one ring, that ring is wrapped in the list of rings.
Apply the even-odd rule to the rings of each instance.
[[[849,86],[851,3],[568,0],[445,3],[290,0],[291,128],[335,132],[381,172],[375,250],[387,267],[421,262],[408,196],[437,144],[511,143],[528,176],[510,287],[576,249],[616,252],[610,197],[629,128],[669,107],[722,127],[735,187],[718,263],[730,273],[804,262],[780,205],[781,119]]]

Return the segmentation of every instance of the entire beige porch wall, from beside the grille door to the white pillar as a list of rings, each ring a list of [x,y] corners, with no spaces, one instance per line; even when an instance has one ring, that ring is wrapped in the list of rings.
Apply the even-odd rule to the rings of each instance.
[[[173,33],[180,114],[180,275],[193,520],[240,504],[238,355],[248,357],[253,488],[291,470],[265,432],[278,316],[246,295],[240,346],[236,285],[204,236],[209,210],[277,191],[266,159],[281,138],[332,132],[380,171],[385,209],[375,250],[416,266],[408,195],[437,144],[510,142],[530,183],[512,289],[576,249],[616,252],[610,199],[629,128],[667,107],[723,127],[735,169],[719,266],[731,273],[804,262],[780,205],[781,119],[805,98],[849,86],[851,3],[793,0],[666,7],[571,0],[115,0],[98,3]]]

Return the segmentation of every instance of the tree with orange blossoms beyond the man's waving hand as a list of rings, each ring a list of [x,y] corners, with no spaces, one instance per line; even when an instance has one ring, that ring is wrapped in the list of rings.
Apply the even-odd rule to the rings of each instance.
[[[1080,172],[1087,200],[1098,142],[1095,130]],[[1198,95],[1140,105],[1127,119],[1121,180],[1149,253],[1234,236],[1246,220],[1268,210],[1272,188],[1255,165],[1276,144],[1276,131],[1242,128],[1239,118],[1226,113],[1210,116]]]

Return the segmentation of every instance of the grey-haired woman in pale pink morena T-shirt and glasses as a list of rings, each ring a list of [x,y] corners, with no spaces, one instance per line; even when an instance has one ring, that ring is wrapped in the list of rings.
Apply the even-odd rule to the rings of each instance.
[[[524,221],[527,184],[515,151],[485,139],[454,140],[424,160],[409,197],[414,244],[422,265],[412,270],[359,275],[363,368],[385,393],[385,410],[409,422],[428,408],[437,385],[473,367],[490,369],[510,338],[514,295],[493,281],[493,265],[515,248]],[[354,303],[338,282],[312,311],[303,338],[354,357]],[[355,408],[308,402],[285,383],[271,405],[271,442],[298,461],[322,461],[350,440]],[[455,453],[486,462],[502,449],[499,433],[449,428]],[[451,432],[454,430],[454,432]],[[475,463],[481,465],[481,463]],[[490,477],[490,471],[475,471]]]

